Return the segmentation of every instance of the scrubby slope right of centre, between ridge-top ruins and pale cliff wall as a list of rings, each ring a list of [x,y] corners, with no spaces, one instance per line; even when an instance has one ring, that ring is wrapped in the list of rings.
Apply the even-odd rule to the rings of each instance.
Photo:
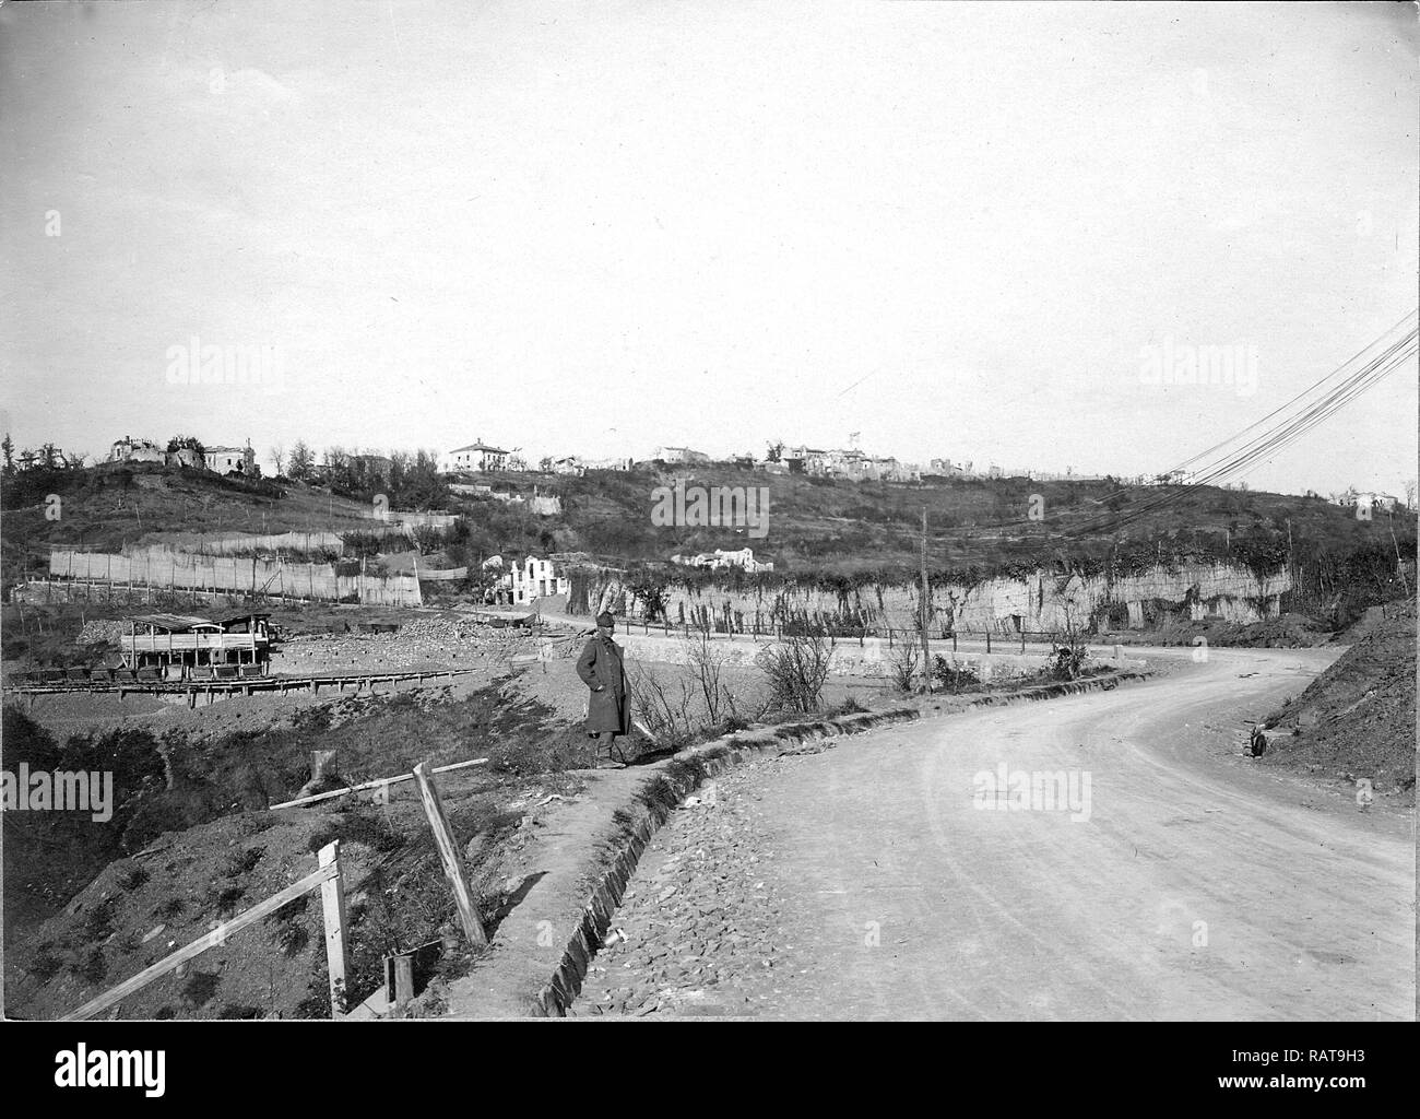
[[[1103,557],[1122,550],[1170,541],[1174,548],[1198,547],[1221,554],[1231,541],[1285,550],[1288,521],[1299,551],[1348,551],[1358,544],[1390,547],[1384,518],[1358,521],[1345,508],[1314,497],[1203,488],[1130,525],[1118,540],[1109,525],[1072,535],[1112,510],[1129,510],[1159,496],[1153,487],[1123,494],[1106,481],[1031,481],[1028,479],[936,480],[923,486],[849,483],[802,476],[767,476],[734,467],[700,467],[689,484],[767,486],[770,533],[754,540],[733,528],[674,528],[650,523],[652,490],[669,484],[670,471],[596,471],[582,479],[508,474],[494,486],[531,491],[534,484],[562,496],[561,518],[531,518],[551,530],[557,547],[594,554],[666,560],[674,552],[746,547],[775,561],[778,571],[852,572],[917,564],[922,510],[927,508],[930,562],[934,568],[995,568],[1048,560],[1062,548],[1071,557]],[[1044,518],[1032,521],[1032,496],[1042,500]],[[498,525],[503,537],[515,525]],[[1413,517],[1397,521],[1397,533],[1413,538]],[[1404,548],[1404,541],[1402,541]],[[1167,548],[1166,548],[1167,550]]]

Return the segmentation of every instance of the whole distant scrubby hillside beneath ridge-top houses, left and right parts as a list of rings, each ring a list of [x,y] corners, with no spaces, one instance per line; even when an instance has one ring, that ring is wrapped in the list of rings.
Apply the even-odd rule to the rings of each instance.
[[[48,545],[57,542],[118,550],[125,542],[192,544],[216,533],[372,527],[365,513],[375,494],[368,490],[331,494],[287,480],[243,481],[158,466],[38,473],[6,480],[9,579],[21,565],[33,571],[43,564]],[[426,552],[442,552],[440,564],[477,567],[494,552],[584,552],[625,567],[663,564],[676,552],[751,547],[757,558],[774,562],[778,577],[910,578],[919,564],[926,508],[927,560],[934,572],[990,575],[1041,565],[1099,569],[1157,557],[1220,558],[1275,571],[1291,555],[1298,591],[1288,609],[1345,625],[1365,606],[1400,594],[1396,551],[1413,560],[1416,548],[1413,513],[1400,511],[1393,520],[1377,513],[1365,521],[1315,496],[1214,487],[1177,490],[1176,501],[1122,527],[1120,515],[1164,491],[1113,480],[853,483],[730,464],[693,470],[643,464],[584,477],[490,473],[480,480],[504,494],[557,496],[562,510],[544,517],[525,503],[430,491],[426,497],[464,517],[454,531],[422,540]],[[764,487],[767,533],[653,524],[657,487],[677,480]],[[45,518],[51,491],[62,501],[58,520]]]

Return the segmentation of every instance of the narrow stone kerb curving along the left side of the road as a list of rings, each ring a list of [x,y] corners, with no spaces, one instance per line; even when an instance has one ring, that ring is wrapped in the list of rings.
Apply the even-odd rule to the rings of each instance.
[[[1021,689],[1010,694],[980,696],[970,707],[1005,706],[1011,703],[1037,702],[1072,696],[1083,692],[1110,690],[1130,680],[1146,680],[1150,672],[1118,672],[1088,680],[1071,680],[1037,687]],[[669,819],[676,805],[684,799],[703,780],[740,765],[753,757],[781,754],[805,741],[834,738],[843,734],[862,734],[868,730],[910,723],[922,719],[914,706],[889,707],[883,711],[839,716],[816,723],[795,723],[763,730],[738,731],[716,738],[703,746],[682,750],[670,763],[657,767],[632,797],[630,802],[618,809],[621,835],[612,841],[613,855],[606,870],[596,879],[591,897],[582,910],[577,932],[567,941],[562,960],[551,981],[532,1000],[530,1012],[534,1017],[564,1017],[582,990],[588,966],[596,954],[611,927],[612,917],[622,902],[626,885],[630,882],[650,838]]]

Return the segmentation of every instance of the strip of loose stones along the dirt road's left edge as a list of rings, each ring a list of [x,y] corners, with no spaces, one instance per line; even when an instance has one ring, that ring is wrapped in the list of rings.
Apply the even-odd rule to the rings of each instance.
[[[814,747],[809,747],[814,748]],[[784,936],[772,842],[748,763],[701,787],[648,846],[574,1017],[753,1017],[794,1004],[808,967]],[[697,802],[699,801],[699,802]]]

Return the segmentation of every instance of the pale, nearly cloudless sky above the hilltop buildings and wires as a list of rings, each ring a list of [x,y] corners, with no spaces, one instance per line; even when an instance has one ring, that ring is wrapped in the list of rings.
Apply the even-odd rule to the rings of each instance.
[[[1409,4],[6,4],[0,419],[1159,473],[1416,307],[1417,50]],[[1417,379],[1248,484],[1403,493]]]

